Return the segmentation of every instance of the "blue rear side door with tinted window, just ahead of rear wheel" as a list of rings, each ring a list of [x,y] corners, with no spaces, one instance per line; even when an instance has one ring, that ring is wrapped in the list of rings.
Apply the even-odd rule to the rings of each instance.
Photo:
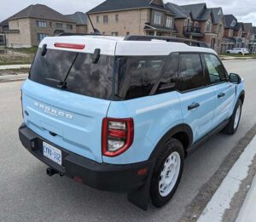
[[[178,97],[183,112],[183,122],[193,130],[194,142],[212,129],[215,93],[207,87],[200,54],[180,54]]]

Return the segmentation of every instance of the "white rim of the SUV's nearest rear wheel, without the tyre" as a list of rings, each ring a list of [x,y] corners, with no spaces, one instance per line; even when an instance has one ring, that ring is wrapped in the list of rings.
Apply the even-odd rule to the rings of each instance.
[[[160,173],[159,192],[160,196],[168,196],[177,182],[180,171],[180,156],[177,152],[166,158],[163,169]]]

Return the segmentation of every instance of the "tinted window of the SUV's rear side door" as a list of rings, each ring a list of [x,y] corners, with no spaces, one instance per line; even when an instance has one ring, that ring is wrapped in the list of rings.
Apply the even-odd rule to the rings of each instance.
[[[180,54],[178,89],[187,91],[205,85],[204,72],[199,54]]]

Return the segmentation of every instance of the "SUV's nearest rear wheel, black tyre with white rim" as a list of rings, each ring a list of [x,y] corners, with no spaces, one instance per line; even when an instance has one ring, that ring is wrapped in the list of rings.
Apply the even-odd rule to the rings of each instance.
[[[177,139],[169,139],[157,157],[150,182],[150,200],[154,207],[166,205],[177,190],[183,173],[184,150]]]

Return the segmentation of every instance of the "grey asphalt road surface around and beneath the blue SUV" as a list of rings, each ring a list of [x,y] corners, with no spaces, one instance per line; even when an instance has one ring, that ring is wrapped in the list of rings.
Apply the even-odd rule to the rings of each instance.
[[[66,177],[49,177],[46,166],[20,144],[20,82],[0,83],[0,221],[177,221],[211,184],[225,157],[256,122],[256,60],[226,61],[246,80],[246,101],[235,136],[217,134],[185,162],[181,184],[165,208],[148,212],[124,194],[96,191]],[[195,204],[195,203],[194,203]],[[195,206],[194,206],[195,207]],[[193,213],[193,212],[192,212]]]

